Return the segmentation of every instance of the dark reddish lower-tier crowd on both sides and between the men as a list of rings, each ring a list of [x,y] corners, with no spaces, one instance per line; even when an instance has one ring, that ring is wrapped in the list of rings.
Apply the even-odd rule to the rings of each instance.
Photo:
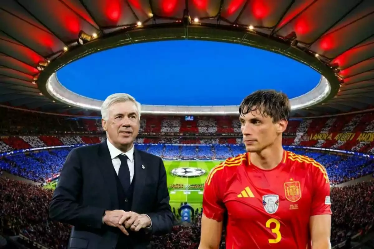
[[[66,248],[70,226],[49,220],[51,196],[51,190],[40,186],[0,178],[0,234],[23,234],[49,248]],[[331,199],[333,245],[373,225],[374,181],[332,188]],[[153,236],[153,248],[197,249],[200,219],[201,214],[196,212],[192,224],[176,225],[167,235]],[[224,248],[224,237],[222,240],[221,248]]]

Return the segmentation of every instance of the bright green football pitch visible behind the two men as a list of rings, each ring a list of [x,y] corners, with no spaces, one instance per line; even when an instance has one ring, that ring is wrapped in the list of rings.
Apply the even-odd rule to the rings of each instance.
[[[203,185],[211,169],[222,161],[168,161],[164,160],[167,174],[167,184],[170,194],[170,205],[178,210],[181,202],[187,202],[194,209],[201,208],[203,200],[203,188],[196,188],[196,185]],[[199,168],[205,170],[205,174],[199,177],[178,177],[171,174],[176,168]],[[172,185],[178,184],[178,188]],[[195,187],[188,187],[195,185]],[[182,187],[181,187],[182,186]],[[47,189],[54,189],[56,182],[51,182],[45,186]]]

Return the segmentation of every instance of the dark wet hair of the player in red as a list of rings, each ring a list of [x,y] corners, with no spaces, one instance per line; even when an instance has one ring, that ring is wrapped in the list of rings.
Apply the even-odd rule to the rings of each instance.
[[[273,118],[273,122],[278,122],[289,119],[291,106],[284,93],[275,90],[258,90],[243,99],[239,106],[239,114],[244,116],[256,110],[263,116]]]

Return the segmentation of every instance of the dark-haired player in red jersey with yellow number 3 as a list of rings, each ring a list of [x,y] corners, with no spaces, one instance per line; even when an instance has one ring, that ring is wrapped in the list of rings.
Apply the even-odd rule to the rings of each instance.
[[[326,169],[283,150],[288,97],[256,91],[239,107],[247,153],[209,173],[199,249],[218,249],[227,214],[226,249],[330,249],[330,185]]]

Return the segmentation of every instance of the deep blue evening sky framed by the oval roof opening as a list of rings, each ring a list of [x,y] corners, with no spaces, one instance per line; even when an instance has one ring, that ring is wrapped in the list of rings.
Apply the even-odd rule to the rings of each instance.
[[[57,72],[62,85],[104,100],[128,93],[144,105],[239,105],[259,89],[289,98],[312,90],[320,74],[272,52],[211,41],[159,41],[105,50]]]

